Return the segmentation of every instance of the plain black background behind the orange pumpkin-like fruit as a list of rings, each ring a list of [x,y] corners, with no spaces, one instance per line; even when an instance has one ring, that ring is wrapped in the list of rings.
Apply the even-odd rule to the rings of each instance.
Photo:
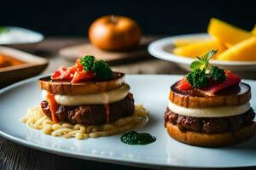
[[[0,26],[26,27],[46,36],[86,36],[90,23],[105,14],[130,16],[147,35],[207,31],[211,17],[247,30],[256,22],[253,0],[3,0],[0,4]]]

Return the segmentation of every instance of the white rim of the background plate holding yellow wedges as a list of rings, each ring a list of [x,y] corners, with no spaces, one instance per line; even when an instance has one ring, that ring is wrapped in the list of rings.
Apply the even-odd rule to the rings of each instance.
[[[209,37],[206,32],[193,33],[193,34],[183,34],[172,37],[163,37],[154,42],[150,42],[148,45],[148,53],[158,59],[165,59],[179,64],[190,65],[195,59],[180,56],[177,54],[168,53],[164,50],[166,45],[172,45],[175,38],[183,37]],[[256,61],[220,61],[212,59],[211,63],[213,65],[256,65]]]

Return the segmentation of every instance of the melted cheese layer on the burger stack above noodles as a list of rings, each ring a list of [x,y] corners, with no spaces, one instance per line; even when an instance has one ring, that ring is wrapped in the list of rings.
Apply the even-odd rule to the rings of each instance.
[[[129,94],[130,86],[124,84],[120,88],[115,88],[108,92],[101,92],[98,94],[84,94],[84,95],[64,95],[55,94],[55,101],[59,105],[104,105],[118,102],[125,98]],[[42,97],[48,101],[49,92],[42,91]]]

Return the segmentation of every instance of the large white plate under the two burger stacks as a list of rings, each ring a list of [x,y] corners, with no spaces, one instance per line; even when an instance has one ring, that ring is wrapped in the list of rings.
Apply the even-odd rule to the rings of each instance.
[[[170,138],[164,127],[164,112],[169,87],[178,76],[127,76],[136,103],[143,104],[151,115],[145,127],[137,129],[156,137],[148,145],[128,145],[120,135],[99,139],[64,139],[45,135],[20,122],[26,110],[41,101],[39,77],[16,83],[0,91],[0,134],[7,139],[37,150],[82,159],[107,161],[144,167],[249,167],[256,166],[256,136],[243,144],[223,148],[203,148],[182,144]],[[256,109],[256,82],[252,87],[253,109]]]

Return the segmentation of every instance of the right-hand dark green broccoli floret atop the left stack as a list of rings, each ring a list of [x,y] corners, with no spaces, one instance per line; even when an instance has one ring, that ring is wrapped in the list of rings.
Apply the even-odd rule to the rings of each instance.
[[[101,80],[109,80],[113,78],[113,71],[104,60],[97,60],[93,64],[93,72],[95,76]]]

